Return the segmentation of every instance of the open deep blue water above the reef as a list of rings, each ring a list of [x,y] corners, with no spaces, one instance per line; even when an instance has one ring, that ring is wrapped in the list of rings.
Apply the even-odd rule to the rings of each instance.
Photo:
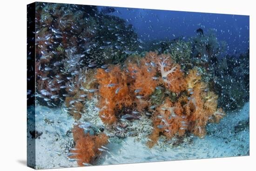
[[[99,7],[101,10],[102,7]],[[214,29],[226,41],[227,53],[244,53],[249,48],[249,16],[115,7],[110,15],[132,24],[143,41],[195,36],[195,31]]]

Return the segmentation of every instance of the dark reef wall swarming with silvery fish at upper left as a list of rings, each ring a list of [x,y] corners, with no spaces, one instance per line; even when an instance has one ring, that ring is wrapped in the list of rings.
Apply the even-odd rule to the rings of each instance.
[[[65,83],[70,85],[88,67],[124,61],[129,54],[125,50],[135,52],[139,45],[131,25],[98,12],[96,6],[38,2],[35,17],[36,92],[41,105],[61,105],[63,95],[70,94]]]

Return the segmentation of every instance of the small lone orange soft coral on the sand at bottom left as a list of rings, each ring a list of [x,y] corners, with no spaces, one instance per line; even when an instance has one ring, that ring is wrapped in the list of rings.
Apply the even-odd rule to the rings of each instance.
[[[89,135],[85,134],[83,128],[78,125],[74,126],[73,137],[75,141],[74,150],[71,150],[79,166],[92,164],[94,159],[101,154],[99,148],[108,143],[108,137],[105,134]]]

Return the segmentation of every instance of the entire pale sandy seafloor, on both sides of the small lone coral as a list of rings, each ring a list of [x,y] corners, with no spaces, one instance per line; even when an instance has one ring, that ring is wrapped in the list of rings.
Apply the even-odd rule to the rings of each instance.
[[[93,102],[86,105],[87,111],[81,119],[90,119],[90,122],[101,125]],[[28,111],[33,113],[30,108]],[[42,133],[35,140],[36,169],[76,167],[76,161],[68,161],[66,157],[69,149],[74,147],[71,132],[74,118],[61,108],[52,109],[45,106],[37,106],[35,114],[36,130]],[[103,152],[94,165],[247,156],[249,125],[245,126],[245,123],[248,121],[249,102],[241,110],[227,113],[219,124],[209,124],[208,134],[204,138],[192,136],[178,146],[164,144],[160,138],[157,145],[148,149],[145,145],[147,139],[143,138],[143,130],[147,129],[147,125],[136,120],[133,126],[139,132],[139,140],[138,137],[109,138],[110,143],[106,145],[110,149],[109,152]],[[144,137],[146,136],[145,134]],[[31,140],[29,133],[28,140]]]

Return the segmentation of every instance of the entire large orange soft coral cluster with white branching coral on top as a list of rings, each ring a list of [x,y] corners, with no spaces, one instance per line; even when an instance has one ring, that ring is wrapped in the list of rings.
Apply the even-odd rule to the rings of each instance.
[[[153,115],[154,130],[148,146],[152,147],[160,133],[167,139],[176,134],[182,136],[186,131],[203,137],[207,123],[219,122],[225,115],[222,109],[217,109],[218,97],[201,80],[198,68],[185,75],[169,54],[155,52],[146,53],[145,58],[127,60],[123,68],[97,70],[98,107],[104,123],[111,125],[121,118],[126,112],[124,107],[139,115],[149,113]]]

